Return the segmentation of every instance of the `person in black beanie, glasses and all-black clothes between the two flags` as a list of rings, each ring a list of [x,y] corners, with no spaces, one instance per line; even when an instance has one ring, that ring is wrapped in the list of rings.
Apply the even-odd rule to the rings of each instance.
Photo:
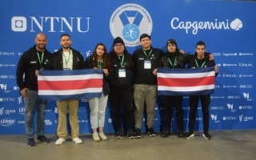
[[[132,70],[134,62],[126,50],[122,38],[114,39],[110,60],[114,69],[114,78],[110,82],[110,103],[116,138],[122,138],[123,136],[121,105],[125,115],[127,136],[128,138],[134,138],[132,130],[134,122],[132,110]]]

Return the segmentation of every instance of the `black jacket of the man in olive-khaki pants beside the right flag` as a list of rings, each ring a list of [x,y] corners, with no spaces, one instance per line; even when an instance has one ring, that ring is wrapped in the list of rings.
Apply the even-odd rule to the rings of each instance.
[[[157,77],[153,74],[153,70],[158,68],[162,50],[151,47],[151,54],[147,58],[142,49],[134,51],[134,83],[144,85],[157,85]],[[144,69],[144,61],[151,61],[151,69]]]

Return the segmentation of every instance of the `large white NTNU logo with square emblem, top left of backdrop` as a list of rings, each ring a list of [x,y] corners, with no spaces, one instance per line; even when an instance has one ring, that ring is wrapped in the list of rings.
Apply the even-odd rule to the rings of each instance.
[[[74,25],[75,23],[75,25]],[[30,25],[29,25],[30,24]],[[89,31],[90,18],[63,18],[63,17],[18,17],[11,18],[11,29],[14,32],[35,32],[40,30],[46,32],[44,28],[47,28],[48,32],[73,32],[74,30],[80,33],[86,33]],[[74,26],[77,26],[75,28]]]

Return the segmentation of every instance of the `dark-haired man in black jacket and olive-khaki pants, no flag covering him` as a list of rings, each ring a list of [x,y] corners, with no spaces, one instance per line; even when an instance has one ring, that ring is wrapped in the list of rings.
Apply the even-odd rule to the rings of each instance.
[[[150,35],[140,36],[141,49],[135,50],[134,59],[134,137],[141,138],[144,105],[146,103],[147,133],[153,137],[154,108],[157,99],[157,68],[162,57],[162,50],[151,46]]]

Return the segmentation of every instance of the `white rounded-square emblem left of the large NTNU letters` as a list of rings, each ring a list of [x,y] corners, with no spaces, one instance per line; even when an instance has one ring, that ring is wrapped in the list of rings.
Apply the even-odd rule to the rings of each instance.
[[[11,30],[14,30],[14,32],[26,31],[26,18],[25,17],[11,18]]]

